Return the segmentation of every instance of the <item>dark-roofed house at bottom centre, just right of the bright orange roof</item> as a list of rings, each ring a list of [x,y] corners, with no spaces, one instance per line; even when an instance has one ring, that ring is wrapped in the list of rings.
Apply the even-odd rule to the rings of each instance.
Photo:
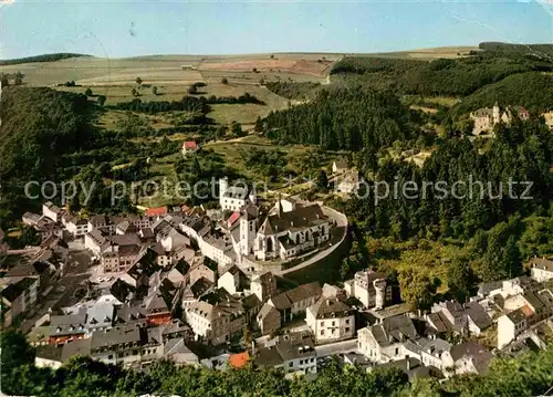
[[[254,365],[282,368],[286,376],[316,374],[316,351],[306,332],[280,335],[274,344],[255,349]]]

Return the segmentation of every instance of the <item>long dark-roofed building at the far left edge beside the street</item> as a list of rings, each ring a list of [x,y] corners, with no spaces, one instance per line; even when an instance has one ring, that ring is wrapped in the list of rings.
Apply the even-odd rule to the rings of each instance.
[[[10,326],[20,314],[34,306],[39,295],[39,278],[28,276],[14,281],[0,291],[4,326]]]

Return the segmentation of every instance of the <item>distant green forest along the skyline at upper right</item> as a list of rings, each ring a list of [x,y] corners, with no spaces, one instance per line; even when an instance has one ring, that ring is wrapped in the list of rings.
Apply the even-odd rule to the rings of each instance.
[[[346,83],[356,81],[376,87],[393,87],[399,94],[465,96],[479,88],[525,72],[552,72],[552,45],[520,48],[482,44],[484,51],[456,60],[431,62],[347,56],[332,74]]]

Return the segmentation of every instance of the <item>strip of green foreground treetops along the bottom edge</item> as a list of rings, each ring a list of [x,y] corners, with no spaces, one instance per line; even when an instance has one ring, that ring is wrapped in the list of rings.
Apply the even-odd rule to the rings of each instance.
[[[523,353],[517,358],[495,358],[483,376],[467,375],[439,383],[414,378],[396,369],[366,373],[342,368],[337,362],[320,370],[315,379],[285,379],[282,372],[241,369],[217,372],[202,367],[153,364],[137,373],[119,366],[74,357],[61,368],[34,367],[34,349],[23,335],[8,332],[1,341],[2,391],[36,397],[129,397],[144,394],[195,396],[420,396],[420,397],[523,397],[542,395],[553,383],[553,352]]]

